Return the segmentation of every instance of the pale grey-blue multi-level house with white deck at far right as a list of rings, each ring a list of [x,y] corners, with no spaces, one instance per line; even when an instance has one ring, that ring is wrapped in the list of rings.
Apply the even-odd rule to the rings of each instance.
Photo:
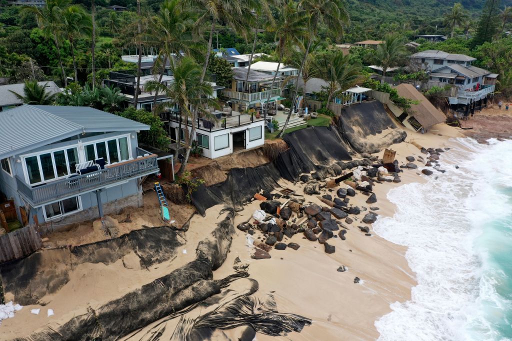
[[[429,86],[451,86],[450,104],[481,104],[495,92],[498,74],[472,66],[476,58],[439,50],[411,55],[411,63],[430,74]]]

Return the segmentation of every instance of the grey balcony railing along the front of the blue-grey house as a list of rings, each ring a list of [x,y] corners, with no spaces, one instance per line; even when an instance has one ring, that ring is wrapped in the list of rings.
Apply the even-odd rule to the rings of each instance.
[[[148,154],[148,156],[106,165],[104,169],[97,172],[59,179],[37,187],[31,187],[25,183],[25,180],[16,176],[18,191],[31,204],[41,205],[99,189],[119,181],[157,173],[159,171],[157,156],[137,148],[137,155],[140,156],[140,154]]]

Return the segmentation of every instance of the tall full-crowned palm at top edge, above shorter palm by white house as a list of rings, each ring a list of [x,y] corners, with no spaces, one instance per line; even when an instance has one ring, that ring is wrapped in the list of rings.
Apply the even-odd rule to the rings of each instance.
[[[155,62],[155,69],[160,74],[162,81],[167,60],[173,55],[179,57],[184,54],[200,54],[197,47],[197,39],[193,34],[193,25],[196,16],[187,10],[183,10],[180,0],[166,0],[160,6],[160,12],[150,22],[150,34],[148,41],[153,45],[160,45],[160,50]],[[153,99],[153,113],[155,113],[158,90]]]

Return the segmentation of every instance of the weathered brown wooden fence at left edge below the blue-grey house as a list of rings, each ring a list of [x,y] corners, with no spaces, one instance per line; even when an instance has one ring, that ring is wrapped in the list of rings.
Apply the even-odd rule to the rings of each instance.
[[[22,258],[42,247],[42,241],[32,226],[0,236],[0,263]]]

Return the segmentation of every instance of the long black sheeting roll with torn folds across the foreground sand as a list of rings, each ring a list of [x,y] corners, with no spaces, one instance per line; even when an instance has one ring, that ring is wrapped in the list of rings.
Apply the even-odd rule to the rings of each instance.
[[[90,308],[87,313],[72,317],[59,327],[46,327],[16,340],[115,340],[166,316],[176,317],[181,310],[186,313],[198,304],[203,306],[203,302],[215,304],[218,297],[210,297],[220,294],[221,289],[233,280],[248,276],[246,272],[237,271],[225,279],[212,280],[212,270],[226,259],[234,233],[234,209],[225,208],[221,214],[223,212],[227,212],[226,217],[209,237],[199,243],[194,261],[97,309]],[[245,325],[268,335],[281,335],[291,330],[301,331],[304,326],[311,324],[310,319],[280,314],[274,309],[256,311],[254,308],[259,306],[257,301],[247,297],[255,290],[241,292],[232,302],[220,304],[218,301],[219,314],[210,314],[208,318],[203,316],[202,321],[198,317],[195,323],[183,324],[180,321],[175,333],[185,331],[185,335],[189,335],[194,329],[205,327],[234,328]]]

